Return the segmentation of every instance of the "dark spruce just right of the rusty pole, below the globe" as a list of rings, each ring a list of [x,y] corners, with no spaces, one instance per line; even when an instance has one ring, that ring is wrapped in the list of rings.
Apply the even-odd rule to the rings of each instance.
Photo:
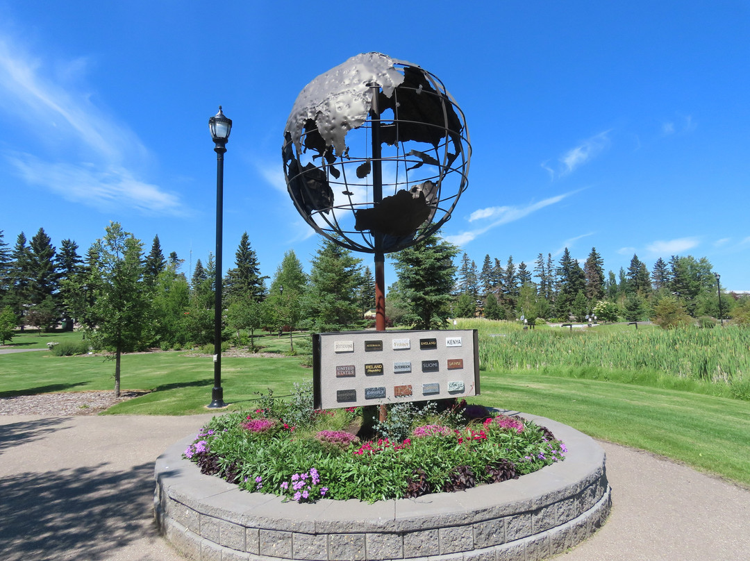
[[[441,329],[450,315],[458,248],[436,234],[393,254],[404,306],[413,329]]]

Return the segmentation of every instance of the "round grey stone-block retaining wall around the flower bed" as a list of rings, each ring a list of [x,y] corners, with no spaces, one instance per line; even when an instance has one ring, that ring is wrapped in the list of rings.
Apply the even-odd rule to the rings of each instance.
[[[154,514],[166,539],[199,561],[544,559],[604,522],[610,487],[601,446],[567,425],[523,417],[565,443],[565,461],[511,481],[373,505],[298,504],[239,490],[181,458],[188,437],[157,459]]]

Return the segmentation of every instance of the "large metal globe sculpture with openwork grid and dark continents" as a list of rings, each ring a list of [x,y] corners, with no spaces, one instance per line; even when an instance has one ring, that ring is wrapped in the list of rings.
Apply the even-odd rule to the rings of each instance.
[[[471,145],[440,79],[368,52],[305,86],[282,154],[299,214],[323,236],[377,258],[449,220],[468,186]]]

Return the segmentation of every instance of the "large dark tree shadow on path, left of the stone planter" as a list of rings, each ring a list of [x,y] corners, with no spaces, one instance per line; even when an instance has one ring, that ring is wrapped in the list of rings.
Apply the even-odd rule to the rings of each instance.
[[[116,547],[156,535],[154,464],[109,464],[25,472],[0,481],[0,551],[5,561],[104,559]]]

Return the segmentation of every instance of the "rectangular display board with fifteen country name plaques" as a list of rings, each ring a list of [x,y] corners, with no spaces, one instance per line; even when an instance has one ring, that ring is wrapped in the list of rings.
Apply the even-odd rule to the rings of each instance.
[[[479,395],[476,329],[313,335],[316,409]]]

